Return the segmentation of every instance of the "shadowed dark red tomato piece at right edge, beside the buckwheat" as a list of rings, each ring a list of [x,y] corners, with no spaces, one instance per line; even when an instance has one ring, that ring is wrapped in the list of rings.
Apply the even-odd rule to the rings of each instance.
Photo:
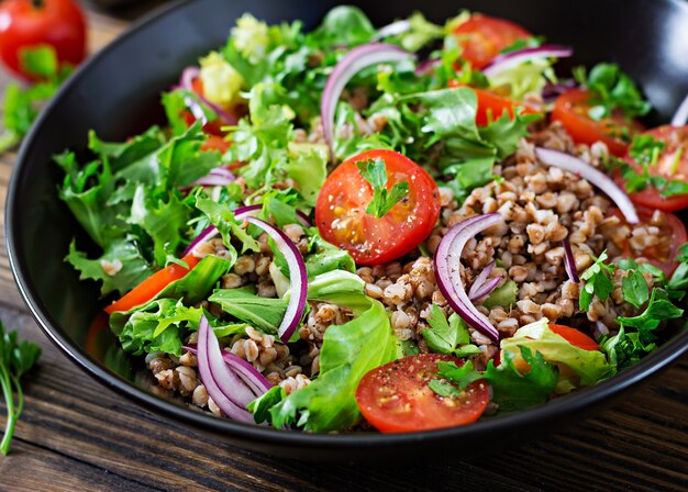
[[[641,224],[651,224],[654,212],[642,206],[636,208]],[[613,209],[610,215],[615,215],[621,224],[628,224],[621,211]],[[684,222],[670,212],[664,212],[665,221],[659,227],[661,243],[656,246],[650,246],[643,250],[634,249],[628,238],[617,243],[617,247],[629,258],[647,258],[647,260],[664,271],[667,277],[674,273],[678,261],[678,248],[688,241],[688,233]],[[655,225],[655,224],[652,224]]]

